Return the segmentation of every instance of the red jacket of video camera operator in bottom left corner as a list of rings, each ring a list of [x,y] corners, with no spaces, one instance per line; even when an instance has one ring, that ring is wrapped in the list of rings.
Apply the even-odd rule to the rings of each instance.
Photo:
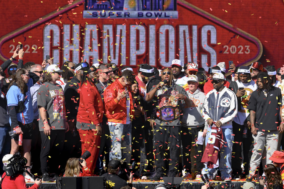
[[[6,175],[6,172],[3,173],[2,179]],[[29,189],[37,189],[39,185],[35,184],[32,185]],[[5,178],[2,181],[2,188],[4,189],[28,189],[26,183],[25,183],[25,177],[23,175],[17,175],[14,178],[5,176]]]

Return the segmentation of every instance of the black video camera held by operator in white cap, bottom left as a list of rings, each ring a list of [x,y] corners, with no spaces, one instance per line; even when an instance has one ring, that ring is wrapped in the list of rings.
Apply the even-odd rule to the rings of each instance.
[[[20,152],[14,154],[8,161],[10,161],[10,163],[7,164],[7,168],[5,169],[7,176],[13,178],[15,175],[25,172],[27,159],[22,157]]]

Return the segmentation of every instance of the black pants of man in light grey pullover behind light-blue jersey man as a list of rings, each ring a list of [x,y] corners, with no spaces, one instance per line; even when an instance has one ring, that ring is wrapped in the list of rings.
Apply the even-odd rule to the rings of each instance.
[[[39,132],[38,128],[38,120],[33,120],[33,138],[32,138],[32,144],[30,149],[31,154],[31,162],[33,162],[33,167],[31,168],[32,173],[37,173],[38,175],[41,174],[40,167],[41,167],[41,161],[38,157],[41,155],[41,134]]]

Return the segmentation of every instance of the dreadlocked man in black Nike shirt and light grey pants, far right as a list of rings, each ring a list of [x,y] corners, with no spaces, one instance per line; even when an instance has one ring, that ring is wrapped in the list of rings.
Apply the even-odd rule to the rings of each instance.
[[[267,73],[259,73],[257,76],[257,90],[251,93],[247,109],[250,110],[251,133],[254,138],[249,175],[246,181],[251,181],[256,168],[262,158],[266,146],[266,164],[271,164],[269,159],[277,150],[279,132],[284,131],[284,119],[279,120],[279,110],[282,106],[281,90],[272,85]]]

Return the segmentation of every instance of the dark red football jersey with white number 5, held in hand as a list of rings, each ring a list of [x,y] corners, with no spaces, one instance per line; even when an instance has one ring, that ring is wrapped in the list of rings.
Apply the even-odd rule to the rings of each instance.
[[[207,164],[208,168],[219,167],[219,151],[225,143],[221,127],[211,126],[211,133],[206,144],[201,162]]]

